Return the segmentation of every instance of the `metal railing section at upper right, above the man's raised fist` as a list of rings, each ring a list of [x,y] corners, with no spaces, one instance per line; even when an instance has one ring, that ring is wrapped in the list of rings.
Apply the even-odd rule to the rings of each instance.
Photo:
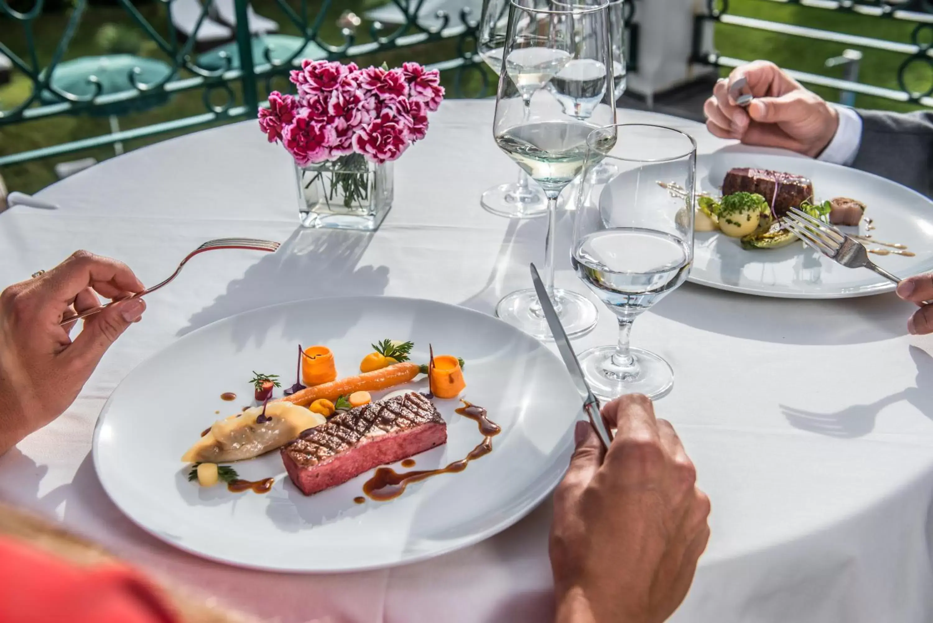
[[[921,106],[933,106],[933,4],[930,0],[909,0],[891,3],[885,0],[761,0],[764,3],[812,7],[835,14],[852,13],[878,20],[899,21],[913,24],[911,42],[888,41],[871,36],[847,35],[839,32],[808,28],[778,21],[734,15],[730,13],[730,0],[706,0],[706,10],[696,17],[694,24],[693,62],[717,67],[737,67],[754,59],[733,58],[721,55],[715,50],[708,24],[721,23],[740,26],[763,33],[798,36],[815,41],[827,41],[866,50],[882,50],[903,55],[897,69],[898,89],[865,84],[853,79],[830,78],[803,71],[788,71],[801,82],[838,89],[842,92],[860,93],[880,97],[895,102],[912,103]],[[801,48],[801,55],[807,50]],[[923,88],[911,88],[907,75],[915,64],[924,64],[930,69]],[[917,72],[914,72],[916,76]]]

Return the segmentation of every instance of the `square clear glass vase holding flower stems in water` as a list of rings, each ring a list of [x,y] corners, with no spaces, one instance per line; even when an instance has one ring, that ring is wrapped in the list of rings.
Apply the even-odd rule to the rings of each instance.
[[[325,163],[296,165],[299,219],[304,227],[375,232],[392,207],[392,163],[352,153]]]

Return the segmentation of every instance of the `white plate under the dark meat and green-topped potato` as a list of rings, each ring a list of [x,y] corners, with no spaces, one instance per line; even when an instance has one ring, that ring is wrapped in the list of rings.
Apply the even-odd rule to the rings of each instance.
[[[877,240],[907,245],[915,257],[871,256],[897,276],[933,270],[933,202],[884,177],[806,158],[740,151],[719,151],[697,159],[697,186],[718,191],[732,167],[751,166],[809,177],[817,201],[853,197],[868,205]],[[855,228],[852,228],[855,231]],[[862,225],[862,234],[865,234]],[[738,240],[717,233],[697,233],[689,280],[719,288],[800,299],[866,296],[894,290],[895,284],[868,269],[845,268],[801,244],[747,251]]]

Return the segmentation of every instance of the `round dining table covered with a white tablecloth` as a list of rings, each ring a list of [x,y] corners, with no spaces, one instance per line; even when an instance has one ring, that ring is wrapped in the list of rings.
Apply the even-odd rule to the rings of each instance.
[[[201,255],[150,295],[142,321],[110,348],[75,404],[0,457],[0,499],[262,620],[549,620],[550,501],[436,559],[365,573],[270,573],[200,559],[138,528],[108,499],[91,456],[95,420],[120,379],[210,322],[361,294],[492,314],[504,294],[529,287],[547,219],[503,219],[480,207],[482,191],[517,174],[494,144],[493,112],[488,100],[440,107],[425,140],[397,161],[395,202],[374,234],[302,228],[294,165],[253,120],[68,177],[38,195],[58,209],[0,214],[4,286],[77,248],[127,262],[152,284],[212,238],[282,242],[274,254]],[[688,132],[700,153],[734,149],[693,121],[632,110],[619,118]],[[558,219],[556,282],[588,293],[570,267],[572,219],[569,209]],[[713,508],[709,546],[672,621],[933,620],[933,341],[907,334],[912,309],[893,293],[807,301],[688,283],[637,320],[634,345],[674,367],[674,389],[656,411],[675,425]],[[578,352],[615,341],[615,319],[601,310],[596,329],[574,341]],[[262,327],[253,332],[262,338]]]

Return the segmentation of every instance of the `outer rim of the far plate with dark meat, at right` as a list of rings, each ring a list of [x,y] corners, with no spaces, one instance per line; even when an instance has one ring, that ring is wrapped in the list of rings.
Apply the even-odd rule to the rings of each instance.
[[[736,153],[741,153],[750,158],[754,158],[756,156],[764,156],[766,158],[791,159],[796,156],[800,160],[808,160],[813,163],[819,163],[821,166],[827,166],[829,168],[838,168],[838,169],[843,169],[846,171],[855,171],[858,175],[869,177],[870,179],[873,179],[876,182],[881,181],[884,184],[894,184],[895,186],[899,186],[903,190],[908,191],[912,193],[913,195],[915,195],[919,200],[930,205],[931,209],[933,209],[933,200],[931,200],[929,197],[926,197],[926,195],[924,195],[923,193],[914,191],[912,188],[904,186],[903,184],[900,184],[892,179],[888,179],[887,177],[881,177],[877,174],[870,173],[869,171],[862,171],[861,169],[856,169],[851,166],[842,166],[842,164],[827,163],[824,161],[816,160],[815,158],[803,157],[800,154],[786,154],[786,153],[772,153],[772,152],[761,153],[758,151],[722,152],[722,150],[718,150],[712,153],[704,153],[704,154],[697,155],[697,163],[699,164],[701,159],[703,161],[708,162],[720,155],[731,155],[731,154],[736,154]],[[731,286],[729,284],[721,283],[719,281],[712,281],[709,279],[703,279],[702,277],[693,276],[692,271],[690,272],[690,275],[687,276],[687,280],[690,283],[696,284],[698,286],[704,286],[706,288],[713,288],[715,290],[725,290],[729,292],[738,292],[740,294],[751,294],[753,296],[764,296],[764,297],[775,298],[775,299],[797,299],[797,300],[853,299],[853,298],[857,298],[861,296],[874,296],[876,294],[885,294],[887,292],[893,292],[898,287],[898,284],[888,281],[887,279],[884,279],[884,281],[882,281],[881,283],[877,283],[871,286],[859,286],[858,288],[854,290],[849,290],[849,291],[840,291],[840,290],[829,290],[829,291],[821,291],[821,292],[774,291],[774,290],[769,290],[768,288],[765,288],[765,287],[755,288],[755,287],[746,287],[746,286]]]

